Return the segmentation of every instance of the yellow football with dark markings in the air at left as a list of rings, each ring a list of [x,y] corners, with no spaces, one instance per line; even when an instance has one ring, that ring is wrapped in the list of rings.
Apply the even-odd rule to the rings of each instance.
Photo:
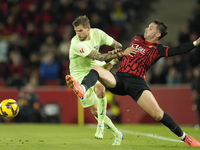
[[[19,113],[19,105],[14,99],[5,99],[0,103],[0,114],[4,118],[14,118]]]

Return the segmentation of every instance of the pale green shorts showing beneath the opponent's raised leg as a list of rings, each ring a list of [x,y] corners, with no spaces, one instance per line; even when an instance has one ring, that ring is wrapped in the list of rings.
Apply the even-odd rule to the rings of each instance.
[[[94,105],[95,103],[97,103],[98,97],[96,93],[94,92],[94,86],[89,88],[85,92],[83,99],[80,99],[80,100],[81,100],[83,108],[90,107]]]

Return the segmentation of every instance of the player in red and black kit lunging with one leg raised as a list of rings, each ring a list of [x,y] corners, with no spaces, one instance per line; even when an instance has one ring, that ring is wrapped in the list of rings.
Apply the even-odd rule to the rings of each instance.
[[[129,95],[155,120],[163,123],[182,141],[189,146],[200,147],[199,142],[187,135],[176,124],[170,115],[165,113],[158,105],[151,90],[146,84],[146,71],[161,57],[170,57],[184,54],[200,45],[200,38],[194,42],[177,47],[168,47],[159,44],[158,41],[167,34],[167,26],[158,20],[154,20],[143,35],[137,35],[131,47],[137,52],[133,56],[123,56],[116,74],[95,66],[79,84],[72,76],[67,75],[66,81],[75,93],[84,92],[99,80],[110,92],[117,95]],[[69,82],[71,81],[71,82]]]

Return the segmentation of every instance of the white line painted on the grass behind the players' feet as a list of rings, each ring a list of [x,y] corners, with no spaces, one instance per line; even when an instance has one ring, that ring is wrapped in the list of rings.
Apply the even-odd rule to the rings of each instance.
[[[96,125],[88,125],[90,128],[96,128]],[[124,130],[124,129],[119,129],[122,133],[127,133],[127,134],[132,134],[132,135],[141,135],[141,136],[147,136],[151,138],[156,138],[159,140],[165,140],[165,141],[172,141],[172,142],[183,142],[181,140],[176,140],[176,139],[170,139],[167,137],[159,136],[156,134],[149,134],[149,133],[141,133],[141,132],[135,132],[135,131],[130,131],[130,130]]]

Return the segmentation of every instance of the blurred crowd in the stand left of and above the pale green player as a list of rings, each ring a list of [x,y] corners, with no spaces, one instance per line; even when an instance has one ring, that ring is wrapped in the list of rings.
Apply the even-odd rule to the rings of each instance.
[[[120,41],[144,1],[1,0],[0,85],[65,85],[74,19],[87,15],[92,27]]]

